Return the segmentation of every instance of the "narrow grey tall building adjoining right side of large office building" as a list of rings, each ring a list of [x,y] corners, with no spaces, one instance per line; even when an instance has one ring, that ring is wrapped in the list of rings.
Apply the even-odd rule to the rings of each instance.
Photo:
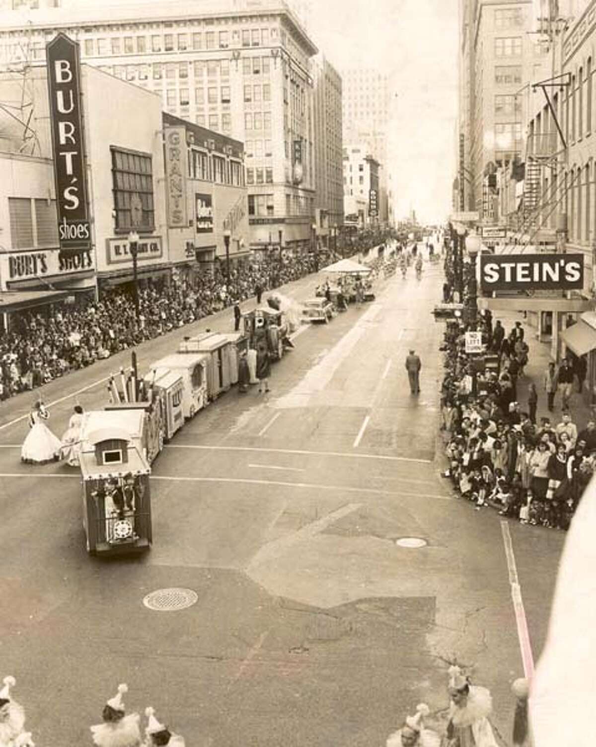
[[[341,77],[323,55],[314,58],[313,76],[315,223],[320,242],[329,247],[332,229],[344,223]]]

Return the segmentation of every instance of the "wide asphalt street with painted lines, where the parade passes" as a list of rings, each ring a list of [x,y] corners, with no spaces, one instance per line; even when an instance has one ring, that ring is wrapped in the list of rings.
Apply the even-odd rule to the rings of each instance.
[[[311,297],[324,277],[282,292]],[[536,660],[564,535],[474,511],[441,478],[441,283],[428,264],[420,282],[380,281],[372,303],[300,329],[270,394],[232,389],[187,423],[154,465],[143,557],[87,556],[78,471],[22,465],[33,394],[1,405],[0,669],[38,747],[90,743],[122,681],[128,710],[153,705],[194,747],[382,745],[420,701],[441,719],[455,660],[491,688],[509,743],[520,622]],[[143,344],[140,371],[183,335],[232,326],[229,310]],[[102,407],[128,363],[46,385],[52,430],[75,401]],[[198,601],[143,606],[169,587]]]

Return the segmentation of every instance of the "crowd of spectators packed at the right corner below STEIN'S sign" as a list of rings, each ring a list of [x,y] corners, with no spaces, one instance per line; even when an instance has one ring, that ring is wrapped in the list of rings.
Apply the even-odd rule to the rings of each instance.
[[[522,523],[566,530],[595,470],[596,423],[578,433],[563,409],[561,422],[542,417],[538,425],[536,385],[524,382],[524,327],[516,322],[507,334],[499,320],[493,326],[489,311],[475,322],[469,316],[447,323],[441,347],[441,429],[450,463],[445,477],[478,510],[491,506]],[[467,331],[481,333],[490,366],[478,367],[465,353]]]

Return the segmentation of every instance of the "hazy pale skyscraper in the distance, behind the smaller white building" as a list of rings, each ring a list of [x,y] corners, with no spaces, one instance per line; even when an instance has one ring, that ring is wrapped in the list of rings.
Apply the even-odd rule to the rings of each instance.
[[[350,68],[344,84],[344,143],[366,144],[380,164],[379,220],[388,220],[388,128],[391,115],[390,76],[374,68]]]

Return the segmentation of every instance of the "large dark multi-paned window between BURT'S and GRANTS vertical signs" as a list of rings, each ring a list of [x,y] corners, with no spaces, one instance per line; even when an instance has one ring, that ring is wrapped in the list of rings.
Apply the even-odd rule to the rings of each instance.
[[[128,232],[131,223],[131,196],[140,196],[143,212],[140,228],[155,229],[151,155],[111,148],[112,185],[116,208],[116,230]]]

